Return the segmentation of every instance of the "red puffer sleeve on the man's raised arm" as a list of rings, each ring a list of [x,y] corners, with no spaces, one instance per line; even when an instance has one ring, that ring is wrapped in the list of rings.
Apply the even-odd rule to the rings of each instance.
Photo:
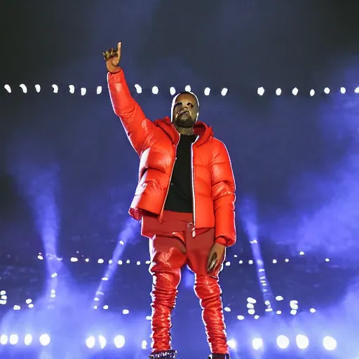
[[[140,155],[144,142],[154,131],[155,125],[144,116],[140,105],[131,96],[123,70],[116,74],[108,72],[107,83],[114,112],[120,118],[130,144]]]

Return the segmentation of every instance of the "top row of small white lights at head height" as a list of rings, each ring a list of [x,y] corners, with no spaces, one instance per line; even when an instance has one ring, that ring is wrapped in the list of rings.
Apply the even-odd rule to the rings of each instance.
[[[28,93],[28,88],[27,88],[27,86],[26,86],[24,83],[22,83],[21,85],[19,85],[19,87],[21,88],[22,93]],[[5,88],[5,90],[6,90],[8,93],[12,93],[11,86],[5,85],[4,88]],[[36,90],[37,93],[40,93],[40,92],[41,92],[41,86],[40,86],[40,85],[35,85],[34,88],[35,88],[35,90]],[[53,88],[53,93],[58,93],[58,92],[59,92],[59,86],[53,84],[53,85],[52,85],[52,88]],[[140,85],[138,85],[138,84],[135,85],[135,90],[136,90],[137,93],[142,93],[142,87],[141,87]],[[183,90],[183,89],[180,89],[179,91],[182,91],[182,90]],[[189,86],[189,85],[185,86],[185,87],[184,87],[184,90],[185,90],[185,91],[191,91],[191,86]],[[179,92],[179,91],[178,91],[178,92]],[[228,93],[228,91],[229,91],[228,88],[222,88],[222,89],[220,90],[220,94],[221,94],[222,96],[225,96],[225,95]],[[345,94],[345,93],[347,93],[347,92],[354,92],[354,93],[359,94],[359,87],[355,88],[354,90],[351,89],[351,90],[348,90],[348,91],[347,91],[347,89],[346,89],[345,87],[341,87],[341,88],[339,89],[339,91],[340,91],[340,93],[342,93],[342,94]],[[322,91],[320,91],[319,93],[325,93],[326,95],[329,95],[331,92],[332,92],[332,90],[330,90],[330,88],[326,87],[326,88],[324,88]],[[75,88],[74,85],[69,85],[69,93],[73,93],[73,94],[76,93],[76,88]],[[81,88],[80,88],[80,94],[81,94],[81,96],[86,95],[86,93],[88,93],[87,88],[81,87]],[[100,94],[102,93],[102,86],[97,86],[97,88],[96,88],[96,93],[97,93],[97,95],[100,95]],[[151,93],[153,93],[154,95],[158,95],[158,93],[160,93],[160,90],[158,89],[157,86],[153,86],[153,87],[151,88]],[[175,89],[174,87],[171,87],[171,88],[170,88],[170,95],[173,96],[173,95],[175,95],[175,93],[177,93],[176,89]],[[208,88],[208,87],[203,90],[203,94],[204,94],[205,96],[210,95],[210,93],[211,93],[211,90],[210,90],[210,88]],[[264,87],[260,87],[260,88],[257,89],[257,94],[258,94],[259,96],[263,96],[264,93],[266,93],[266,90],[264,89]],[[293,88],[293,90],[292,90],[292,95],[296,96],[296,95],[298,95],[298,94],[299,94],[299,89],[298,89],[298,88]],[[277,88],[277,89],[276,89],[276,95],[277,95],[277,96],[283,95],[283,90],[282,90],[281,88]],[[311,95],[311,96],[316,95],[316,90],[313,90],[313,89],[309,90],[309,95]]]

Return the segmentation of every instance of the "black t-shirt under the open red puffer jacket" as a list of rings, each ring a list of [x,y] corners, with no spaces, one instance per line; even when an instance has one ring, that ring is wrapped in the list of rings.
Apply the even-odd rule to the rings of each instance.
[[[180,135],[165,210],[193,212],[191,144],[194,143],[196,137],[196,135]]]

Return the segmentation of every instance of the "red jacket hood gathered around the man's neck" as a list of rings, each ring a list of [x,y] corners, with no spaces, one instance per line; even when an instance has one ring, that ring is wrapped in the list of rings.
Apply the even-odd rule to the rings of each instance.
[[[163,130],[168,137],[170,137],[174,144],[179,142],[179,133],[177,132],[175,126],[171,123],[170,117],[166,116],[162,119],[155,120],[154,124],[161,128],[161,130]],[[194,134],[199,136],[194,145],[201,146],[201,144],[204,144],[210,140],[211,137],[213,137],[213,130],[212,127],[207,126],[204,122],[197,121],[196,125],[194,125]]]

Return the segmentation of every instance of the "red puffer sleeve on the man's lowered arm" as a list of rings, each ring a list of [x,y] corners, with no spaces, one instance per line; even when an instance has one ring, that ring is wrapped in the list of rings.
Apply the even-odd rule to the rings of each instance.
[[[228,151],[215,140],[212,158],[212,198],[215,207],[215,242],[229,247],[236,243],[234,202],[236,184]]]

